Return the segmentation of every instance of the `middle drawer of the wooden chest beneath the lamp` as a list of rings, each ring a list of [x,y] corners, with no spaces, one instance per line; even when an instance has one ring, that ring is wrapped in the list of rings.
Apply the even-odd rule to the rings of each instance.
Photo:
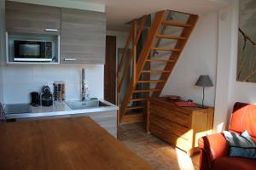
[[[191,139],[192,135],[188,127],[177,124],[176,122],[169,121],[160,116],[151,115],[149,118],[150,125],[160,126],[167,133],[179,136],[183,139]]]

